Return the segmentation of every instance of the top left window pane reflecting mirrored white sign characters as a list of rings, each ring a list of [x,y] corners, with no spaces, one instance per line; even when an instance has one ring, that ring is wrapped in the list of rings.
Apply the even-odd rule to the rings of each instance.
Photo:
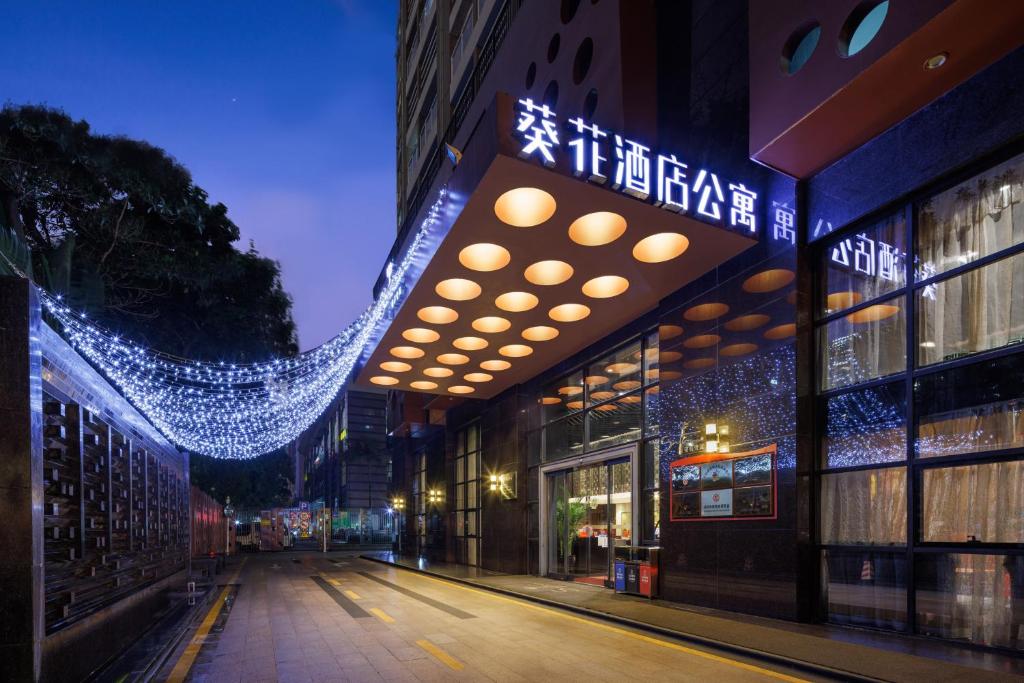
[[[901,289],[906,284],[905,238],[899,213],[827,246],[818,309],[836,313]]]

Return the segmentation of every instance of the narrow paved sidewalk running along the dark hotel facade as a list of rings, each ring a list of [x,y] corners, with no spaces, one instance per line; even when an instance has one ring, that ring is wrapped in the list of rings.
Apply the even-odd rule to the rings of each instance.
[[[361,556],[746,656],[802,663],[819,675],[930,683],[1024,676],[1020,657],[941,641],[649,601],[587,584],[427,563],[414,557],[397,558],[390,552]]]

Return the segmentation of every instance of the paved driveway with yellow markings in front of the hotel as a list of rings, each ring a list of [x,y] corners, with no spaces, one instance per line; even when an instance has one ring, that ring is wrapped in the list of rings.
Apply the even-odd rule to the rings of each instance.
[[[167,680],[809,680],[353,555],[250,555],[224,577]]]

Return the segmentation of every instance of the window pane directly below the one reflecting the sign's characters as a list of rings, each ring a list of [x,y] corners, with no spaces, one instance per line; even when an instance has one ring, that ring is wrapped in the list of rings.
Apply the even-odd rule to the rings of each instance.
[[[822,390],[865,382],[906,368],[903,298],[848,313],[818,329]]]

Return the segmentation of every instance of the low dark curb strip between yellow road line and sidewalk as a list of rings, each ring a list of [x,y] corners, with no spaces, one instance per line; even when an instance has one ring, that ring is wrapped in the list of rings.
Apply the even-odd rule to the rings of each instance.
[[[779,665],[786,667],[788,669],[797,669],[799,671],[803,671],[809,674],[814,674],[816,676],[823,676],[826,678],[833,678],[842,681],[863,681],[865,683],[879,683],[879,681],[886,680],[881,678],[873,678],[871,676],[864,676],[862,674],[846,671],[843,669],[834,669],[825,665],[820,665],[813,661],[807,661],[805,659],[791,659],[790,657],[783,656],[781,654],[776,654],[774,652],[767,652],[765,650],[759,650],[743,645],[737,645],[735,643],[727,643],[725,641],[716,640],[714,638],[707,638],[705,636],[698,636],[696,634],[686,633],[684,631],[676,631],[674,629],[668,629],[665,627],[656,626],[654,624],[647,624],[646,622],[637,622],[635,620],[628,618],[626,616],[620,616],[617,614],[612,614],[609,612],[602,612],[596,609],[589,609],[587,607],[580,607],[579,605],[570,605],[562,602],[557,602],[555,600],[549,600],[548,598],[542,598],[536,595],[528,595],[526,593],[518,593],[516,591],[510,591],[505,588],[487,586],[486,584],[479,584],[477,582],[470,581],[468,579],[449,577],[447,574],[439,573],[437,571],[430,571],[428,569],[421,569],[419,567],[411,567],[404,564],[395,564],[394,562],[388,562],[387,560],[383,560],[378,557],[371,557],[369,555],[359,555],[359,557],[365,560],[370,560],[371,562],[377,562],[378,564],[383,564],[385,566],[395,567],[396,569],[404,569],[407,571],[421,573],[427,577],[432,577],[434,579],[450,581],[454,584],[471,586],[473,588],[477,588],[483,591],[490,591],[492,593],[499,593],[502,595],[506,595],[508,597],[518,598],[520,600],[527,600],[529,602],[536,602],[538,604],[546,605],[548,607],[554,607],[556,609],[575,612],[578,614],[583,614],[585,616],[590,616],[592,618],[601,620],[602,622],[610,622],[612,624],[617,624],[620,626],[626,626],[631,629],[636,629],[638,631],[646,631],[648,633],[654,633],[659,636],[672,638],[673,640],[680,640],[694,645],[711,647],[717,650],[729,652],[730,654],[738,654],[751,659],[757,659],[759,661]]]

